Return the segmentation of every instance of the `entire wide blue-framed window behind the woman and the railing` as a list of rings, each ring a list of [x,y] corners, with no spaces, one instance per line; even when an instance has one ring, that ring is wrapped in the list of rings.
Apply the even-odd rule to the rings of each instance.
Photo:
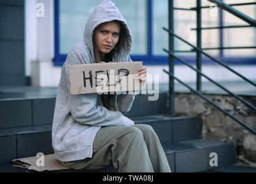
[[[168,0],[112,0],[128,23],[132,34],[132,60],[143,60],[143,64],[168,64],[168,55],[162,51],[168,49]],[[230,3],[229,0],[224,2]],[[55,59],[54,64],[61,66],[73,45],[83,40],[86,22],[102,0],[55,0]],[[174,1],[175,7],[196,7],[196,1]],[[202,6],[209,6],[202,0]],[[238,10],[255,18],[256,5],[236,6]],[[240,9],[239,9],[240,7]],[[211,17],[210,9],[202,9],[202,28],[223,25],[244,25],[243,21],[225,10],[218,9],[218,16]],[[175,10],[175,33],[196,45],[196,11]],[[71,29],[72,28],[72,29]],[[245,34],[238,33],[244,32]],[[202,30],[202,48],[255,46],[255,28],[205,29]],[[191,47],[175,39],[175,50],[189,51]],[[205,52],[227,64],[256,64],[255,49],[210,49]],[[176,55],[188,63],[195,63],[195,52],[176,52]],[[240,59],[238,59],[239,57]],[[241,59],[242,58],[242,59]],[[203,64],[208,60],[203,57]],[[180,62],[176,62],[180,64]]]

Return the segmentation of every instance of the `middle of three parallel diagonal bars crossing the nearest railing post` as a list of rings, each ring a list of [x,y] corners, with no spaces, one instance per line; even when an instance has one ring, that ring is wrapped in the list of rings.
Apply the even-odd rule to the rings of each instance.
[[[196,68],[192,67],[190,64],[184,62],[182,59],[180,59],[179,57],[173,55],[173,53],[167,51],[166,49],[163,49],[165,52],[169,53],[169,55],[172,55],[173,57],[175,57],[177,60],[179,60],[181,63],[185,64],[186,66],[190,67],[192,70],[198,72],[199,74],[201,74],[202,76],[204,76],[206,79],[208,79],[210,82],[213,82],[215,85],[217,85],[218,87],[220,87],[222,90],[227,91],[229,94],[231,94],[233,97],[235,97],[236,99],[239,99],[240,101],[242,101],[244,104],[246,104],[247,106],[250,106],[250,108],[256,110],[256,107],[251,105],[249,102],[245,101],[243,98],[240,98],[238,95],[232,93],[231,91],[229,91],[228,89],[226,89],[225,87],[221,86],[219,83],[213,81],[213,79],[209,78],[209,76],[203,74],[201,71],[197,70]]]

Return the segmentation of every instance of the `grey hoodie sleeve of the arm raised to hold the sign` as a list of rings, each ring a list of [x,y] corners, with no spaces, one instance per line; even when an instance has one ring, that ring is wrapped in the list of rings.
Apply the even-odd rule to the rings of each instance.
[[[132,62],[131,57],[128,55],[125,58],[124,62]],[[131,93],[131,91],[130,92],[127,91],[127,94],[117,95],[117,105],[118,105],[118,108],[120,109],[120,112],[123,114],[126,114],[129,112],[129,110],[131,110],[133,101],[135,99],[135,95],[139,94],[139,91],[132,91],[132,94],[129,94],[129,93]]]

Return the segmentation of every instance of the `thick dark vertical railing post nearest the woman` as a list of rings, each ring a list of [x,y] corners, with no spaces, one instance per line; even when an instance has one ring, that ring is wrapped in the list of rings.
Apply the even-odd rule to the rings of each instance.
[[[169,30],[173,32],[174,30],[174,13],[173,13],[173,0],[168,1],[168,24]],[[174,51],[174,36],[169,34],[169,51],[173,53]],[[174,57],[169,55],[169,72],[174,74]],[[174,78],[169,75],[169,113],[170,116],[175,116],[175,90],[174,90]]]

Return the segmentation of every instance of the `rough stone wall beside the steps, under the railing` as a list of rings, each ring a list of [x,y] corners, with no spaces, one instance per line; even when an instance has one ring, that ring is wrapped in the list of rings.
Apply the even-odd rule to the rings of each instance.
[[[256,130],[256,112],[229,95],[206,95],[215,104]],[[256,97],[240,96],[256,106]],[[238,160],[256,167],[256,135],[196,94],[176,93],[175,113],[200,116],[203,139],[235,141]]]

